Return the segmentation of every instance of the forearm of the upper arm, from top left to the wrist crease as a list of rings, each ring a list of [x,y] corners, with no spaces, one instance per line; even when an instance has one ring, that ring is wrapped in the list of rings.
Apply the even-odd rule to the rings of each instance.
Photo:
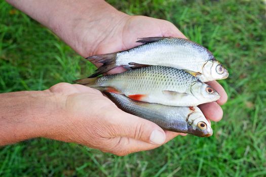
[[[92,55],[98,46],[96,42],[103,40],[110,28],[126,16],[102,0],[7,2],[50,28],[83,57]],[[85,36],[86,42],[83,43]],[[83,47],[84,44],[91,45],[89,51]]]

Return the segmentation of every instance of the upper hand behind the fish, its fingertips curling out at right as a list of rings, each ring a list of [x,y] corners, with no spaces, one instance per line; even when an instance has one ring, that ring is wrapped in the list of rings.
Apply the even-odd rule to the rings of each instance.
[[[136,43],[135,41],[140,37],[171,36],[186,38],[172,23],[165,20],[144,16],[127,16],[123,17],[123,20],[121,20],[120,22],[121,23],[116,26],[117,31],[106,33],[108,35],[105,36],[105,39],[99,43],[97,43],[96,41],[94,42],[95,44],[97,44],[95,51],[91,51],[91,49],[89,48],[90,45],[86,45],[85,39],[85,51],[88,51],[88,54],[99,55],[127,50],[139,45],[139,43]],[[87,41],[87,43],[90,42],[91,41]],[[99,64],[96,64],[96,66],[99,66]],[[123,71],[125,71],[123,67],[118,67],[109,71],[108,74]],[[217,81],[210,81],[208,82],[208,84],[211,85],[220,94],[221,97],[217,102],[199,105],[199,108],[202,110],[207,119],[212,121],[219,121],[222,118],[223,114],[222,109],[219,105],[222,105],[226,102],[227,95],[223,87]],[[176,133],[172,132],[172,134],[174,135]]]

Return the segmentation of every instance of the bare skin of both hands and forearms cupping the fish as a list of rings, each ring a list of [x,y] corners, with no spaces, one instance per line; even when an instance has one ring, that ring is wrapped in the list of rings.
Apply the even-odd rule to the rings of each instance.
[[[139,37],[185,36],[170,22],[129,16],[101,0],[8,1],[50,28],[83,57],[133,48]],[[118,67],[108,74],[125,71]],[[227,96],[222,86],[208,82],[221,96],[200,105],[213,121],[222,118],[219,105]],[[58,83],[45,91],[0,94],[0,146],[44,137],[75,142],[116,155],[154,149],[177,135],[125,113],[99,91],[79,84]]]

